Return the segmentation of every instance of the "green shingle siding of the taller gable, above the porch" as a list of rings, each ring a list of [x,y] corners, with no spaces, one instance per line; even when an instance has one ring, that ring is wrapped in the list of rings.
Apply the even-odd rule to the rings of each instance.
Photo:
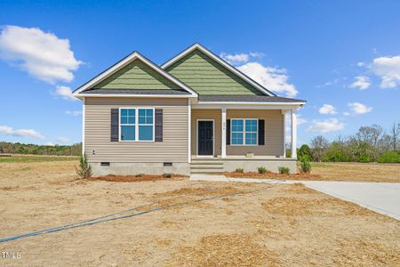
[[[165,70],[199,94],[263,94],[199,50]]]

